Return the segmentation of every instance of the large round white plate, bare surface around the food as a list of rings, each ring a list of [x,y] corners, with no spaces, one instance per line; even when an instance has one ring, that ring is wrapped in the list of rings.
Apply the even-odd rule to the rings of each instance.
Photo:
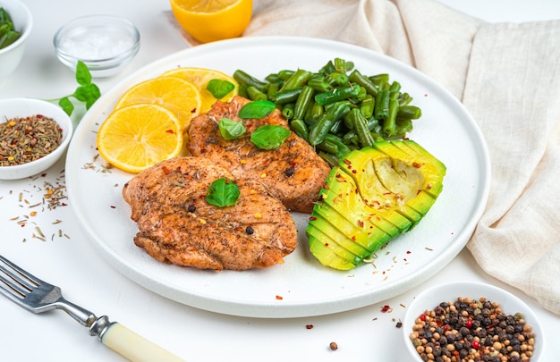
[[[339,272],[319,265],[307,248],[309,215],[293,217],[300,246],[284,265],[246,272],[199,271],[165,265],[137,248],[130,207],[121,191],[132,174],[112,169],[96,150],[96,132],[116,100],[141,80],[178,66],[233,74],[241,69],[264,79],[297,68],[318,71],[340,57],[367,75],[389,73],[422,109],[410,138],[447,166],[444,191],[412,232],[378,251],[373,264]],[[106,260],[132,281],[192,307],[234,316],[319,316],[364,307],[411,289],[447,265],[465,246],[488,199],[488,149],[461,103],[421,72],[349,44],[312,38],[238,38],[195,46],[135,72],[106,92],[85,114],[70,145],[66,184],[84,231]]]

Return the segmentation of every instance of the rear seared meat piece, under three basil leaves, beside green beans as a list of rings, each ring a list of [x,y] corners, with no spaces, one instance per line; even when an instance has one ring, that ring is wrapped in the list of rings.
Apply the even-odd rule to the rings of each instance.
[[[288,128],[278,110],[263,119],[244,120],[247,132],[240,139],[227,140],[220,134],[220,119],[241,121],[237,114],[248,102],[243,97],[229,103],[218,101],[207,114],[193,118],[187,144],[191,155],[209,158],[238,178],[262,182],[290,210],[310,213],[330,172],[328,164],[293,132],[276,149],[259,149],[250,141],[250,134],[261,125]]]

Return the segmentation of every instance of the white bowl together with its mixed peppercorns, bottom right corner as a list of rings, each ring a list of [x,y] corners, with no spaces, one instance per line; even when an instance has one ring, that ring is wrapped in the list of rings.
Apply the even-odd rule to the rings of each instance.
[[[537,316],[521,299],[485,283],[422,291],[407,307],[403,335],[412,361],[542,361]]]

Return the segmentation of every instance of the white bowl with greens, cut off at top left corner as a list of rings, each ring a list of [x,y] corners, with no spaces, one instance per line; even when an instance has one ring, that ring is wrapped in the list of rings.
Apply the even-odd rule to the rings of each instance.
[[[33,28],[30,9],[18,0],[0,0],[0,83],[16,70]]]

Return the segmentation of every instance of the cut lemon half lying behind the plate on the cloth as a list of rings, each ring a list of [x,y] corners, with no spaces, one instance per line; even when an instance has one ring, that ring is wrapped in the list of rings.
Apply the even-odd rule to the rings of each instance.
[[[202,43],[236,38],[249,25],[251,0],[171,0],[175,20]]]

